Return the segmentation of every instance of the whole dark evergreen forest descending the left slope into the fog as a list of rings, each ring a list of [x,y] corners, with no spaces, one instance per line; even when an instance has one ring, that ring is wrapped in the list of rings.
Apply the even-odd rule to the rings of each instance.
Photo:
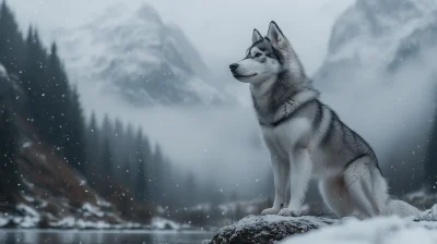
[[[26,114],[37,143],[50,145],[52,154],[62,157],[104,197],[113,195],[113,186],[119,184],[137,200],[162,206],[223,200],[218,186],[199,182],[196,172],[173,163],[141,127],[109,115],[98,121],[95,113],[86,121],[56,42],[45,48],[33,26],[25,35],[21,33],[4,0],[0,5],[0,64],[16,76],[25,95],[5,99],[0,94],[0,194],[13,192],[20,181],[14,160],[20,129],[12,100],[24,108],[21,115]]]

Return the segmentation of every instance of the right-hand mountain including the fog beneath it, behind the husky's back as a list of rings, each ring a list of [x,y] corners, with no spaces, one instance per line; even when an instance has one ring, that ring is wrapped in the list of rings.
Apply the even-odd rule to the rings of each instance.
[[[435,0],[357,0],[335,21],[314,76],[323,99],[369,141],[388,178],[410,179],[408,186],[392,180],[394,191],[424,173],[436,98],[436,13]]]

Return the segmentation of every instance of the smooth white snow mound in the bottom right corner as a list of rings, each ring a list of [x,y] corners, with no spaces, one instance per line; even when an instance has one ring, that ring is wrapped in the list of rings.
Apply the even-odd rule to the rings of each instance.
[[[364,221],[351,218],[342,224],[295,235],[280,243],[432,244],[437,243],[437,222],[414,222],[399,217],[378,217]]]

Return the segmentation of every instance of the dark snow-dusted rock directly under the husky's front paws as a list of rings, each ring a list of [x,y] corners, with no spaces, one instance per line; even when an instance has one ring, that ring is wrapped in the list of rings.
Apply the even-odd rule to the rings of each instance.
[[[339,220],[319,217],[248,216],[220,229],[211,244],[267,244],[286,236],[319,229]]]

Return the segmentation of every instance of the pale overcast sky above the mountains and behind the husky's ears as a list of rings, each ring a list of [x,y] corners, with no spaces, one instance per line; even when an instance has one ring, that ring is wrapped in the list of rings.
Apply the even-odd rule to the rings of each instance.
[[[119,0],[8,0],[23,27],[42,33],[84,24]],[[335,17],[354,0],[129,0],[154,5],[165,22],[179,25],[202,57],[231,62],[244,56],[253,27],[265,33],[276,21],[294,44],[309,73],[322,62]]]

